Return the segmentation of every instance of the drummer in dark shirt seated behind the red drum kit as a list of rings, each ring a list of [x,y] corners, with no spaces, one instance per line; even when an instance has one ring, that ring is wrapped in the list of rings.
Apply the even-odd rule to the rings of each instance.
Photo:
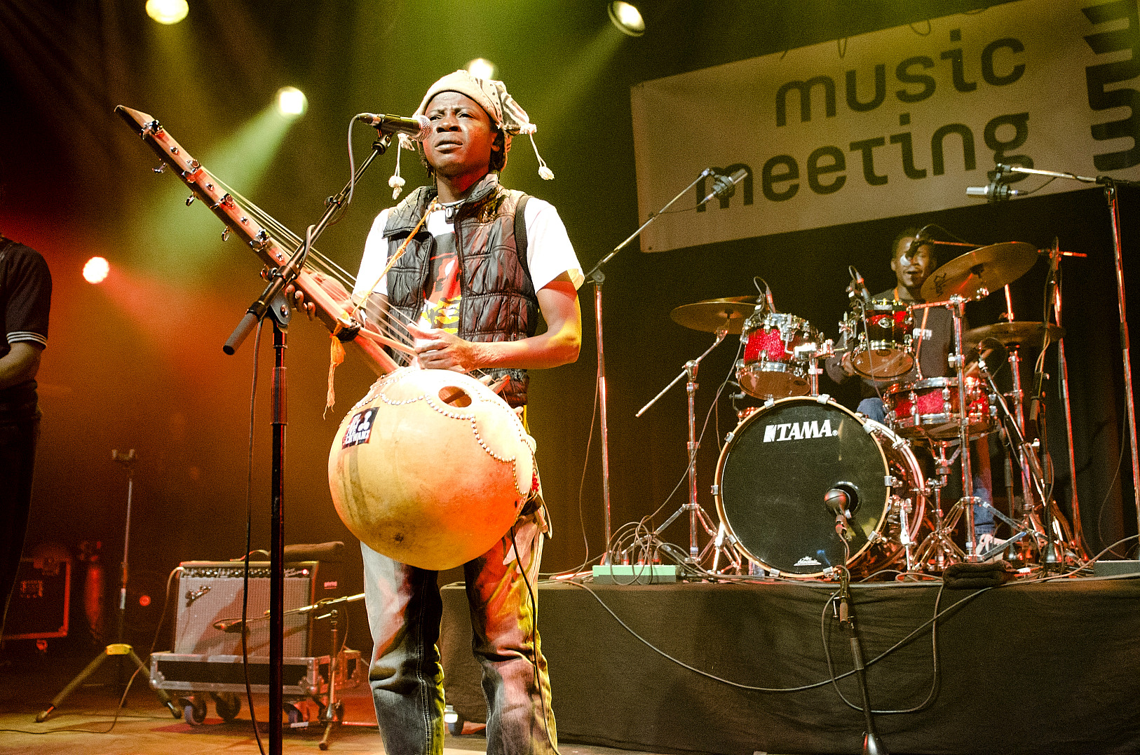
[[[872,297],[872,301],[897,301],[902,303],[922,303],[922,284],[938,267],[935,245],[926,241],[918,228],[906,228],[899,233],[891,246],[890,269],[895,273],[895,287]],[[858,294],[858,292],[856,292]],[[954,318],[944,307],[915,310],[914,325],[917,338],[912,349],[917,352],[917,365],[904,375],[890,380],[871,380],[861,378],[863,397],[856,409],[860,414],[876,422],[886,423],[886,409],[879,395],[888,385],[899,382],[912,382],[926,378],[944,378],[948,370],[946,357],[954,342]],[[963,324],[964,330],[964,324]],[[836,349],[837,356],[830,357],[824,367],[828,376],[837,383],[844,383],[858,376],[852,365],[852,352],[848,349]],[[974,495],[990,503],[990,450],[983,439],[975,444],[979,453],[971,455],[974,460]],[[974,535],[978,551],[986,550],[993,541],[993,512],[982,506],[974,508]]]

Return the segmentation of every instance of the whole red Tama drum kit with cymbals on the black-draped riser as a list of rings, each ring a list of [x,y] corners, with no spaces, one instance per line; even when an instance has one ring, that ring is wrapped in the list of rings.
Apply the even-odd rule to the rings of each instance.
[[[1053,260],[1068,254],[1043,252]],[[678,324],[717,338],[670,383],[689,376],[691,496],[654,535],[689,511],[691,562],[711,553],[714,571],[723,557],[724,570],[747,567],[754,574],[790,578],[829,578],[841,567],[864,576],[940,573],[952,563],[999,557],[1047,569],[1049,563],[1076,562],[1084,555],[1080,536],[1073,537],[1052,500],[1036,441],[1026,440],[1020,351],[1044,350],[1064,335],[1058,324],[1012,317],[1009,284],[1033,267],[1037,254],[1024,243],[972,249],[927,278],[921,289],[925,303],[871,300],[858,278],[860,285],[848,289],[850,310],[839,323],[838,346],[806,319],[776,311],[771,292],[674,309]],[[964,305],[1002,287],[1005,322],[963,332]],[[918,357],[925,310],[933,309],[948,310],[953,323],[951,371],[923,378]],[[922,326],[915,327],[918,323]],[[742,391],[738,398],[752,405],[738,409],[739,424],[727,433],[717,461],[716,527],[697,504],[693,393],[697,365],[728,334],[739,335],[742,347],[734,366]],[[984,359],[997,348],[1005,350],[1011,367],[1012,389],[1005,392]],[[824,360],[842,360],[876,384],[883,422],[821,392]],[[1021,470],[1020,496],[1015,496],[1007,471],[1012,515],[974,492],[971,444],[991,435],[1002,439],[1008,460]],[[988,448],[987,443],[980,445]],[[961,497],[944,510],[943,488],[955,463]],[[972,535],[976,508],[988,508],[1012,536],[983,552]],[[964,531],[955,542],[960,520]],[[698,525],[710,536],[700,552]]]

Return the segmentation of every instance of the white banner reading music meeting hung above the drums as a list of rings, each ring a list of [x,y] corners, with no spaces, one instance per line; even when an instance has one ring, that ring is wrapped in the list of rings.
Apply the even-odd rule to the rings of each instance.
[[[642,218],[706,168],[748,176],[731,200],[660,217],[642,250],[978,203],[966,188],[999,162],[1140,179],[1138,76],[1137,0],[1020,0],[646,81],[632,92]]]

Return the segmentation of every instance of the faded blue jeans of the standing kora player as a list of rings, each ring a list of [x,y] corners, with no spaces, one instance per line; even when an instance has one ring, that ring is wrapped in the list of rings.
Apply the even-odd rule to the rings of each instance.
[[[443,606],[438,573],[393,561],[363,543],[360,550],[374,642],[368,680],[384,752],[439,755],[443,667],[437,643]],[[487,553],[463,565],[472,651],[483,671],[487,752],[492,755],[553,754],[557,746],[546,659],[535,625],[542,555],[543,533],[531,514],[520,518]],[[527,594],[527,581],[532,595]]]

